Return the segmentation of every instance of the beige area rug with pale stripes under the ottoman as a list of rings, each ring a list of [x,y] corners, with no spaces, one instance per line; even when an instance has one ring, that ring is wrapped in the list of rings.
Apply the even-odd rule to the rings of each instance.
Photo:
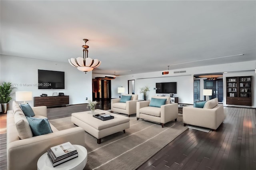
[[[50,122],[58,130],[76,127],[71,117]],[[188,127],[183,126],[182,117],[178,117],[177,122],[166,123],[164,128],[160,124],[130,117],[130,128],[126,129],[126,133],[106,136],[101,144],[85,132],[88,160],[84,170],[134,170],[186,129]]]

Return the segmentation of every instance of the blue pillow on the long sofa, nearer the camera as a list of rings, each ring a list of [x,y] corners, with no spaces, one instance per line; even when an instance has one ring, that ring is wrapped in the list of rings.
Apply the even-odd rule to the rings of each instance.
[[[27,117],[28,123],[32,130],[33,136],[39,136],[42,134],[52,133],[52,128],[47,118],[39,119],[35,117]]]

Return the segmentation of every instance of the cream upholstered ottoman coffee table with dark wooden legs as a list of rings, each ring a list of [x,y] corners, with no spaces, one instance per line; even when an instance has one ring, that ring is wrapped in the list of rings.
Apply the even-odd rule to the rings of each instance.
[[[90,111],[72,113],[71,121],[78,127],[83,128],[86,132],[97,138],[97,143],[101,143],[101,138],[120,132],[130,128],[130,118],[122,115],[110,113],[100,109],[95,110],[96,113],[106,113],[114,116],[114,119],[102,121],[90,115]]]

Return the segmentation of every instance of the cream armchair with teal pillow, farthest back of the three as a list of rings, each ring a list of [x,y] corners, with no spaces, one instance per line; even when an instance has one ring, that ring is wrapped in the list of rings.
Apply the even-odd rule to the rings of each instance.
[[[123,95],[132,96],[132,98],[131,100],[126,101],[126,103],[120,102],[120,99],[111,99],[111,111],[124,113],[130,117],[130,115],[136,114],[136,103],[138,101],[138,95]]]

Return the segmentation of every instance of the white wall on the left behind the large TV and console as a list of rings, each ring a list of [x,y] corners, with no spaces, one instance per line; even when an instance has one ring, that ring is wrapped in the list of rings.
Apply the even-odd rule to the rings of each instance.
[[[52,93],[63,92],[69,95],[69,104],[85,103],[85,98],[92,99],[92,72],[84,73],[72,67],[68,61],[57,63],[53,61],[30,59],[0,55],[0,83],[3,81],[13,83],[15,91],[32,91],[33,97],[39,97],[42,93],[52,96]],[[65,89],[38,89],[37,86],[26,86],[24,84],[38,83],[38,69],[64,71]],[[15,94],[12,95],[15,100]],[[10,108],[12,108],[10,102]],[[34,101],[28,101],[34,106]]]

